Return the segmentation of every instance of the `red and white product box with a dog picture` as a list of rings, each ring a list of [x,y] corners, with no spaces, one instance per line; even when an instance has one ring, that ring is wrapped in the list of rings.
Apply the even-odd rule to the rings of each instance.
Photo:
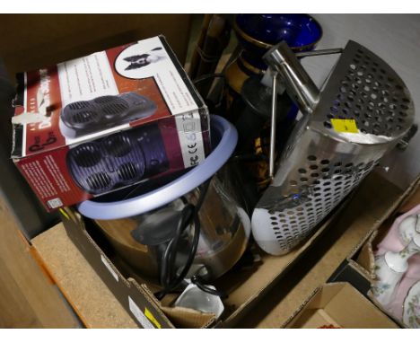
[[[48,211],[210,153],[206,105],[162,36],[17,77],[12,158]]]

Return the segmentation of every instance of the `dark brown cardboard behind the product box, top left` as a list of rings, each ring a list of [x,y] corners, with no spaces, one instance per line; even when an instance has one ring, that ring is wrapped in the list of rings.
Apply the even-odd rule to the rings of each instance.
[[[14,78],[22,70],[51,66],[159,34],[184,63],[191,14],[19,13],[2,15],[2,23],[2,59]]]

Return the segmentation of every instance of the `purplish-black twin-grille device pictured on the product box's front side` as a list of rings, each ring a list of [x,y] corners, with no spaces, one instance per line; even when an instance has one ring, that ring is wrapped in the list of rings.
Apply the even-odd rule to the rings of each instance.
[[[67,153],[66,163],[77,185],[93,195],[132,185],[169,168],[155,123],[76,145]]]

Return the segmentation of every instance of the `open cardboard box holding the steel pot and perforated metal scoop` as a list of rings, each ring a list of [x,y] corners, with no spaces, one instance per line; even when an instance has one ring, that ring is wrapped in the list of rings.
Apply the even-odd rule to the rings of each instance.
[[[225,310],[218,321],[211,313],[171,307],[171,297],[158,301],[153,285],[136,276],[110,247],[100,229],[83,218],[74,208],[62,208],[63,224],[74,245],[82,252],[92,268],[98,273],[119,303],[127,310],[140,327],[150,328],[228,328],[234,326],[249,309],[267,294],[293,263],[327,232],[346,201],[337,207],[312,236],[297,249],[284,256],[270,256],[259,251],[260,261],[250,268],[232,268],[223,277],[215,280],[214,286],[229,296],[223,300]],[[147,313],[147,314],[146,314]],[[144,316],[146,320],[144,320]],[[151,319],[152,318],[152,319]]]

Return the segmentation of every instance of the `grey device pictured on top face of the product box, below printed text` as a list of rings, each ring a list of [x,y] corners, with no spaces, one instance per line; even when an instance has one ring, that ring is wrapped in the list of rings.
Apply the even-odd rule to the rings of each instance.
[[[61,111],[59,127],[69,138],[89,135],[153,115],[156,104],[137,92],[104,95],[90,101],[74,101]]]

